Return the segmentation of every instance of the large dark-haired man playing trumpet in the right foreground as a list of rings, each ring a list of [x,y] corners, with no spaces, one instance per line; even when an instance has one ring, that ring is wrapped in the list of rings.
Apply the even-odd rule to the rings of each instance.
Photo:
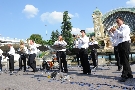
[[[120,62],[123,65],[123,71],[121,75],[120,82],[125,82],[128,78],[133,78],[131,67],[129,64],[129,52],[130,52],[130,28],[128,25],[124,24],[124,20],[121,17],[116,19],[116,23],[119,26],[118,29],[115,27],[110,30],[110,33],[116,31],[118,33],[118,52],[120,57]]]

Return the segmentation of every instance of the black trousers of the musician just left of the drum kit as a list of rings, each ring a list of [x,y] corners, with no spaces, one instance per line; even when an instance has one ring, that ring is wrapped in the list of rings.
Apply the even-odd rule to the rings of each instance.
[[[33,71],[36,71],[36,61],[35,61],[36,54],[30,54],[28,63],[30,67],[33,69]]]

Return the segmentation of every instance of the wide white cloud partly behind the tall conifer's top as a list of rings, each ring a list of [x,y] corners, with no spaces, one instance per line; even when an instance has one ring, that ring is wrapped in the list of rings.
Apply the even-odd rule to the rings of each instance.
[[[75,13],[75,15],[68,13],[69,17],[79,17],[79,15],[77,13]],[[63,20],[63,12],[57,12],[57,11],[53,11],[53,12],[45,12],[43,13],[41,16],[41,21],[45,22],[49,22],[50,24],[54,24],[54,23],[61,23]]]

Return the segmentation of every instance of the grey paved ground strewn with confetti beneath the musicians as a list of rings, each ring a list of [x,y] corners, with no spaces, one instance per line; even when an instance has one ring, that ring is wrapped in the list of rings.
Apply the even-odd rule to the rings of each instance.
[[[135,90],[135,79],[128,79],[126,82],[119,82],[121,71],[117,66],[99,66],[92,70],[92,75],[81,74],[80,67],[71,66],[69,72],[57,73],[56,78],[50,78],[52,71],[39,70],[26,72],[16,70],[11,75],[4,71],[0,75],[0,90]],[[135,65],[131,65],[135,77]],[[62,79],[60,79],[63,77]]]

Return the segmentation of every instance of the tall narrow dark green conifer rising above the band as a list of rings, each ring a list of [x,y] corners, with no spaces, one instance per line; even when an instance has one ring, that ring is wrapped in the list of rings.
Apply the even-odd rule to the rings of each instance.
[[[73,35],[71,34],[72,31],[72,25],[70,22],[70,17],[68,16],[68,11],[65,11],[63,13],[63,22],[61,26],[61,34],[64,38],[64,40],[67,42],[67,48],[71,49],[73,46]]]

